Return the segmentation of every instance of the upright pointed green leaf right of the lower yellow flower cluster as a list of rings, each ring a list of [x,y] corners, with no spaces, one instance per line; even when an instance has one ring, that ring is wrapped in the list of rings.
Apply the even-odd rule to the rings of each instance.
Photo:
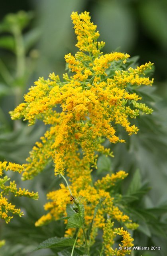
[[[139,169],[137,169],[136,172],[134,173],[130,186],[127,190],[127,194],[128,195],[134,194],[140,188],[141,188],[141,175],[140,175]]]

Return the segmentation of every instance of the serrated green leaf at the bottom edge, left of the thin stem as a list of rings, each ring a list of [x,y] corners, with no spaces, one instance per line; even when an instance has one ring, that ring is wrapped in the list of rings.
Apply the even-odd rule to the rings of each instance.
[[[41,242],[41,244],[39,244],[39,246],[37,246],[37,248],[35,248],[34,251],[45,249],[45,248],[73,246],[74,242],[75,240],[73,238],[65,238],[65,237],[59,238],[55,236]]]

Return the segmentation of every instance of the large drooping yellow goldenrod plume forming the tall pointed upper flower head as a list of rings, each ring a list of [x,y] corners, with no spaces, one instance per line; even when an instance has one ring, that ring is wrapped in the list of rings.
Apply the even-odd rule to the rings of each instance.
[[[120,66],[123,67],[130,56],[100,52],[104,42],[97,42],[99,32],[90,22],[88,12],[73,12],[71,18],[79,52],[75,56],[65,55],[65,60],[73,76],[64,74],[63,82],[54,73],[47,80],[39,78],[24,96],[25,102],[10,112],[12,119],[24,117],[30,125],[36,119],[52,125],[23,166],[24,179],[41,172],[49,160],[55,163],[55,174],[64,174],[67,166],[64,156],[71,150],[71,143],[79,144],[82,154],[96,167],[94,152],[100,148],[100,137],[106,137],[111,143],[124,142],[116,135],[116,125],[122,126],[129,135],[136,134],[139,129],[130,124],[130,118],[136,118],[140,110],[146,114],[152,112],[144,103],[138,103],[140,96],[127,88],[151,86],[153,79],[144,76],[153,64],[122,70]],[[53,110],[57,105],[61,106],[61,113]]]

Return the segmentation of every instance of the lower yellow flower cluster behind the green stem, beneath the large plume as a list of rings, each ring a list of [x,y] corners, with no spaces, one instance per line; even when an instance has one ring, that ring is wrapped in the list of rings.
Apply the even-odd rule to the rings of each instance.
[[[105,198],[102,207],[98,210],[96,217],[94,218],[94,223],[92,226],[92,231],[90,234],[91,240],[88,241],[89,246],[94,243],[94,240],[97,236],[98,228],[106,230],[106,214],[110,216],[113,220],[117,220],[120,224],[124,223],[131,225],[132,229],[137,228],[136,224],[132,223],[132,220],[124,214],[117,206],[114,206],[114,198],[110,195],[110,192],[107,192],[109,187],[109,182],[111,182],[112,186],[115,184],[117,180],[124,179],[128,174],[124,171],[119,171],[116,174],[112,174],[110,177],[108,175],[102,180],[98,180],[95,182],[94,186],[92,184],[91,178],[91,169],[89,163],[84,156],[80,159],[79,154],[76,152],[76,148],[74,145],[71,145],[71,152],[65,156],[65,160],[68,161],[67,175],[69,176],[69,180],[71,182],[71,191],[73,192],[73,196],[77,198],[79,201],[82,201],[84,205],[84,230],[85,232],[88,230],[90,222],[94,215],[94,209],[100,199]],[[36,223],[35,226],[42,226],[48,224],[53,220],[58,220],[61,217],[66,217],[66,208],[70,202],[70,193],[68,188],[66,188],[63,184],[60,185],[61,188],[59,190],[49,192],[47,194],[47,202],[44,206],[45,210],[49,211],[46,215],[42,216]],[[80,199],[82,198],[82,200]],[[66,220],[65,220],[66,223]],[[110,229],[106,232],[111,232]],[[75,229],[68,229],[65,232],[65,236],[73,236],[75,233]],[[79,232],[79,238],[77,242],[83,244],[84,236],[82,230]],[[106,249],[107,250],[107,249]],[[114,255],[114,254],[113,254]]]

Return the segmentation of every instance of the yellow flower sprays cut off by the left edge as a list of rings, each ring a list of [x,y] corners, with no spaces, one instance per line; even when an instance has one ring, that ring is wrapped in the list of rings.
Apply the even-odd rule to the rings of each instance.
[[[3,170],[6,169],[12,170],[14,172],[22,172],[23,166],[20,164],[13,164],[11,162],[0,162],[0,176],[3,174]],[[38,199],[38,193],[29,192],[28,190],[17,188],[15,181],[11,182],[10,185],[6,186],[6,182],[8,182],[10,178],[8,176],[4,176],[0,178],[0,218],[4,219],[6,223],[10,222],[13,216],[8,215],[9,212],[12,214],[19,215],[20,217],[23,215],[20,209],[15,208],[15,205],[8,202],[8,199],[4,197],[4,195],[8,195],[9,192],[13,193],[14,196],[26,196],[33,199]]]

